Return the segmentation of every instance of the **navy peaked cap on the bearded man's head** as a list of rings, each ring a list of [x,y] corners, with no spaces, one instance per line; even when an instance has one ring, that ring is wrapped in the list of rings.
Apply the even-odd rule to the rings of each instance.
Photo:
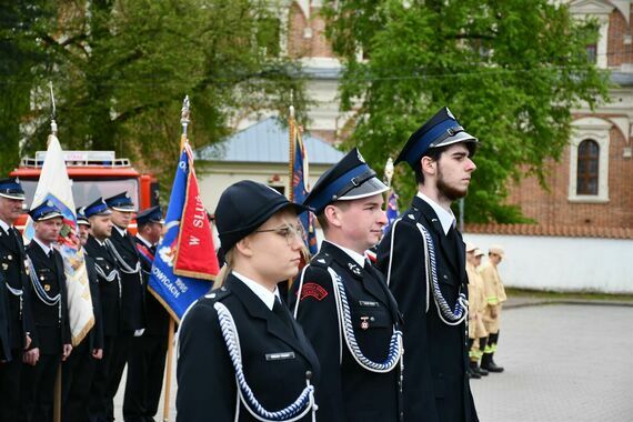
[[[476,143],[478,139],[469,134],[451,110],[444,107],[409,138],[394,164],[406,161],[415,170],[430,149],[460,142]]]

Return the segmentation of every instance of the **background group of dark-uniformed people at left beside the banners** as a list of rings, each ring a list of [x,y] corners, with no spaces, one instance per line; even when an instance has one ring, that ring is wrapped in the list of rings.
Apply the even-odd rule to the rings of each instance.
[[[135,214],[127,192],[77,209],[94,323],[74,348],[63,260],[56,249],[62,211],[51,201],[29,211],[24,247],[13,223],[24,191],[0,180],[0,421],[113,421],[113,398],[128,365],[123,416],[153,421],[164,372],[169,314],[147,290],[162,211]],[[128,227],[137,218],[138,232]],[[56,380],[61,386],[56,399]]]

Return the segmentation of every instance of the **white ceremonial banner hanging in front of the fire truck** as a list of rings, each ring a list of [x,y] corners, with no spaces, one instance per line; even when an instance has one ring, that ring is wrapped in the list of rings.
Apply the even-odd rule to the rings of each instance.
[[[77,237],[77,215],[74,214],[72,189],[62,149],[54,133],[49,135],[47,155],[31,210],[47,201],[52,202],[63,214],[63,227],[57,250],[63,258],[71,341],[72,345],[76,346],[94,325],[94,314],[92,313],[92,298],[90,297],[83,251]],[[30,240],[33,235],[33,222],[29,218],[24,228],[24,238]]]

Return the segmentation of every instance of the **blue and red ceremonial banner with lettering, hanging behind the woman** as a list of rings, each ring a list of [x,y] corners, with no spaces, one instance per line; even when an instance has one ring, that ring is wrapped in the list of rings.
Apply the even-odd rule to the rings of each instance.
[[[209,291],[209,280],[220,271],[187,140],[173,179],[165,230],[157,248],[149,289],[180,322],[187,309]]]

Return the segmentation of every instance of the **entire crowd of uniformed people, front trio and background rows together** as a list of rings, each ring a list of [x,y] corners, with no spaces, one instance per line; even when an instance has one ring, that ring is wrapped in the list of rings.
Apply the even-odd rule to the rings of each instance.
[[[505,293],[503,250],[478,272],[482,253],[451,211],[476,143],[446,108],[415,131],[396,163],[413,169],[418,194],[385,233],[389,188],[356,149],[300,204],[253,181],[229,187],[214,214],[222,270],[178,333],[178,421],[478,421],[469,379],[503,370],[493,353]],[[160,209],[137,215],[135,237],[125,193],[78,210],[97,323],[72,349],[52,248],[61,213],[31,210],[24,250],[12,227],[21,201],[16,180],[0,181],[0,421],[51,420],[60,362],[63,421],[113,420],[125,364],[124,420],[153,420],[169,330],[147,291]],[[304,262],[308,210],[324,240]]]

